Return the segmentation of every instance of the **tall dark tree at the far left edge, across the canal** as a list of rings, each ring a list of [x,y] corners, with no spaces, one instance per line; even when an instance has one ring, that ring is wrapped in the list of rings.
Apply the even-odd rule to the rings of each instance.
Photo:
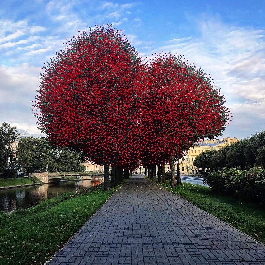
[[[16,142],[18,133],[15,126],[3,122],[0,127],[0,147],[3,153],[0,158],[0,174],[11,177],[16,174],[16,151],[12,148],[12,143]]]

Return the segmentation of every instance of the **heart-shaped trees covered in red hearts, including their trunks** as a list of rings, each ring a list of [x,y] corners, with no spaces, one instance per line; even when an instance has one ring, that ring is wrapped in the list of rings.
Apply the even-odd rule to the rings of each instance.
[[[53,146],[103,164],[105,190],[110,165],[120,172],[139,160],[152,177],[170,161],[174,187],[174,160],[229,121],[224,96],[201,68],[171,53],[143,59],[110,25],[73,36],[43,69],[33,105],[39,129]]]

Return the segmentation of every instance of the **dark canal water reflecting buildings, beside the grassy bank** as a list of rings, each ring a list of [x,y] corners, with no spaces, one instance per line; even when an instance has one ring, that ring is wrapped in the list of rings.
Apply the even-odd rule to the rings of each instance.
[[[25,209],[62,193],[79,192],[102,182],[103,178],[99,178],[0,190],[0,210],[12,212]]]

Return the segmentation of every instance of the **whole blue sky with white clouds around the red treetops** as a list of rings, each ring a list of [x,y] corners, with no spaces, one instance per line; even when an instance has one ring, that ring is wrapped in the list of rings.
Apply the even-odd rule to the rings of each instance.
[[[223,136],[249,137],[265,128],[264,1],[254,3],[0,1],[0,122],[39,133],[31,100],[42,65],[78,30],[109,22],[141,56],[178,52],[210,73],[233,113]]]

